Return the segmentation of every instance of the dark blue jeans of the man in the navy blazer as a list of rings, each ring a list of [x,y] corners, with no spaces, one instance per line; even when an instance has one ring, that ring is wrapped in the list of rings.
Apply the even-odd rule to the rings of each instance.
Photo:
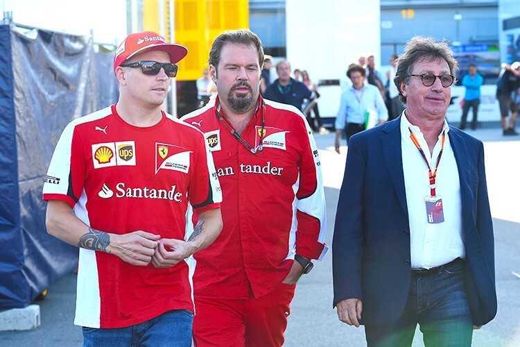
[[[417,323],[425,346],[471,346],[473,323],[464,285],[463,262],[440,273],[412,275],[404,312],[385,325],[365,325],[368,346],[412,346]]]

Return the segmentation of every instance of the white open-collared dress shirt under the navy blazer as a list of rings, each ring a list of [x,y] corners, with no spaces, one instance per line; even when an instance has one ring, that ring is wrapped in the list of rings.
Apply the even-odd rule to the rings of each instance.
[[[457,257],[465,257],[462,239],[462,206],[457,162],[449,140],[449,127],[444,120],[444,150],[437,169],[436,195],[442,198],[444,222],[428,223],[426,203],[430,196],[428,167],[410,139],[410,130],[417,138],[430,163],[432,172],[442,146],[442,133],[430,154],[428,144],[418,126],[401,117],[401,151],[403,154],[404,187],[410,221],[410,253],[412,269],[430,269],[447,264]]]

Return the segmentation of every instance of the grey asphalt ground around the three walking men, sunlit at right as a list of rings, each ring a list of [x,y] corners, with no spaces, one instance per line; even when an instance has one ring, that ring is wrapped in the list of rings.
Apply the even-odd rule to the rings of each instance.
[[[503,136],[497,126],[468,130],[485,143],[485,160],[496,247],[496,318],[474,331],[473,346],[520,346],[520,136]],[[327,199],[327,244],[331,244],[338,193],[347,148],[333,151],[333,133],[315,135],[324,174]],[[332,308],[331,253],[317,262],[297,285],[288,318],[284,346],[365,346],[363,328],[338,321]],[[81,346],[81,329],[73,325],[76,274],[56,282],[39,302],[40,328],[0,332],[0,346]],[[423,346],[417,329],[413,346]]]

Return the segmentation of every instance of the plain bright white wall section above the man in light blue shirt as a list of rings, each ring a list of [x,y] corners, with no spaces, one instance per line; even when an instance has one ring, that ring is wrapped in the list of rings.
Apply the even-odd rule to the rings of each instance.
[[[315,80],[345,76],[359,54],[380,49],[379,0],[326,2],[286,0],[287,58]]]

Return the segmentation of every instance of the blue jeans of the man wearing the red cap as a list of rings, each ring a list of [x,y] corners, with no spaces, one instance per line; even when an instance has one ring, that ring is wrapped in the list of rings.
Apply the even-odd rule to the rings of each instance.
[[[150,321],[125,328],[96,329],[83,327],[83,347],[166,347],[191,346],[193,314],[172,310]]]

